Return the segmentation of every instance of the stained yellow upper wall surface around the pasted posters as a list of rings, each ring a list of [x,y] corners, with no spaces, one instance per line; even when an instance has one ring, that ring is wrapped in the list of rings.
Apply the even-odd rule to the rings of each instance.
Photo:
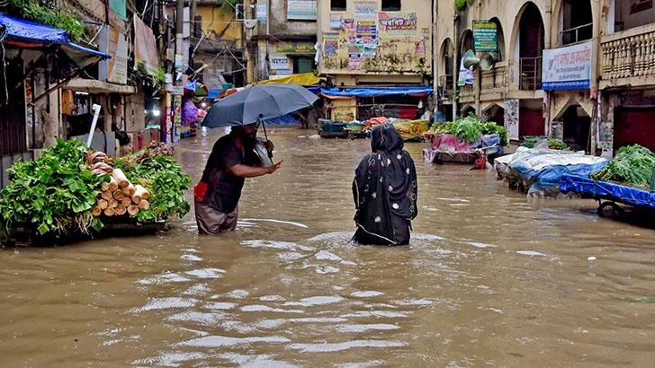
[[[317,17],[319,22],[319,43],[321,45],[321,57],[319,62],[319,73],[321,74],[431,74],[432,73],[432,2],[426,0],[403,0],[400,13],[416,15],[415,24],[409,26],[404,33],[396,29],[390,32],[382,30],[381,24],[388,19],[381,13],[395,15],[395,19],[411,19],[408,14],[399,12],[382,12],[381,0],[372,0],[368,3],[376,4],[376,9],[381,15],[376,21],[374,18],[355,18],[355,4],[362,4],[361,1],[348,0],[345,12],[333,12],[330,9],[329,1],[319,1]],[[363,13],[358,13],[363,14]],[[330,29],[330,20],[342,20],[343,24],[353,24],[352,29]],[[373,22],[377,28],[378,44],[376,48],[355,48],[358,45],[356,36],[359,34],[366,37],[363,32],[357,31],[358,22],[366,25],[365,22]],[[370,23],[369,23],[370,24]],[[351,36],[355,38],[349,38]],[[338,51],[336,56],[326,55],[324,39],[334,39],[334,33],[338,39]],[[327,37],[324,37],[327,36]],[[359,43],[361,46],[361,43]],[[349,57],[363,51],[359,64],[356,59]],[[366,52],[368,51],[368,52]],[[367,55],[368,54],[368,55]]]

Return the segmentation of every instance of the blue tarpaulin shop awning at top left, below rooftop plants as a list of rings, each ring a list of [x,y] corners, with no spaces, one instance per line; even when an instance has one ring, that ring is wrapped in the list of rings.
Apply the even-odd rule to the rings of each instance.
[[[94,57],[109,58],[108,54],[95,51],[91,48],[84,48],[68,40],[65,30],[49,27],[47,25],[28,22],[22,19],[13,18],[0,13],[0,32],[2,28],[6,31],[5,39],[17,41],[21,44],[59,44],[67,53],[83,52]]]

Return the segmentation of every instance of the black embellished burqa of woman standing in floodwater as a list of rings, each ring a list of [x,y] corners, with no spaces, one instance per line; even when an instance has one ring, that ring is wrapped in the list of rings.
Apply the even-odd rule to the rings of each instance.
[[[373,127],[371,150],[354,171],[353,196],[362,244],[408,244],[410,221],[417,216],[417,171],[403,150],[398,130],[390,124]]]

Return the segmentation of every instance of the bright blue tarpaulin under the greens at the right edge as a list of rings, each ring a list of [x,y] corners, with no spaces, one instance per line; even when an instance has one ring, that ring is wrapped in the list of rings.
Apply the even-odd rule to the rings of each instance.
[[[562,175],[560,190],[564,193],[570,191],[587,193],[595,197],[604,197],[630,205],[651,206],[655,208],[655,193],[607,181],[593,180],[583,176]]]

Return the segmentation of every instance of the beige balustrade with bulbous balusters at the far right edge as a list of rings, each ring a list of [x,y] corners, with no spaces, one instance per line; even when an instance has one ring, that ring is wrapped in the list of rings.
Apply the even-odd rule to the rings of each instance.
[[[655,23],[603,36],[601,79],[655,74]]]

